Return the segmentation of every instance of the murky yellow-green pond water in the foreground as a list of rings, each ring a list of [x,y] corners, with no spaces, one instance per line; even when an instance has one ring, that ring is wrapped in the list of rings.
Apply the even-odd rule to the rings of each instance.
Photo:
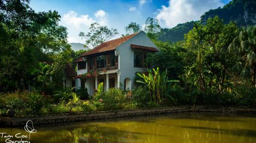
[[[30,142],[256,142],[256,118],[223,115],[176,115],[34,126]],[[0,133],[28,135],[24,127]],[[20,134],[19,134],[20,135]],[[0,135],[0,137],[2,137]],[[12,138],[15,140],[16,138]],[[26,140],[27,138],[23,138]],[[0,142],[6,142],[0,138]],[[19,139],[20,140],[20,139]]]

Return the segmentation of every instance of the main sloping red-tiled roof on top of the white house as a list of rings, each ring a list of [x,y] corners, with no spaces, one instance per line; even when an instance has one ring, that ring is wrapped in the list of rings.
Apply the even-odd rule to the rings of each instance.
[[[95,53],[99,53],[99,52],[114,50],[114,49],[116,49],[116,47],[118,47],[119,45],[121,45],[125,41],[133,38],[137,34],[138,33],[134,33],[134,34],[131,34],[131,35],[128,35],[128,36],[124,36],[124,37],[121,37],[121,38],[118,38],[118,39],[114,39],[114,40],[111,40],[111,41],[104,42],[104,43],[100,44],[99,46],[91,49],[90,51],[82,53],[80,56],[86,56],[86,55],[95,54]]]

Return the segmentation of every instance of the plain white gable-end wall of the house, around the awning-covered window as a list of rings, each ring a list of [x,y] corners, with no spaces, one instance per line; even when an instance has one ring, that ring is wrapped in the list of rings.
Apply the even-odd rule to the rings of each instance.
[[[140,32],[116,48],[116,54],[120,55],[120,83],[123,85],[121,89],[124,89],[125,78],[131,79],[133,87],[135,73],[137,71],[146,71],[145,68],[134,67],[134,50],[131,48],[131,44],[157,48],[157,46],[150,40],[150,38],[147,37],[144,32]]]

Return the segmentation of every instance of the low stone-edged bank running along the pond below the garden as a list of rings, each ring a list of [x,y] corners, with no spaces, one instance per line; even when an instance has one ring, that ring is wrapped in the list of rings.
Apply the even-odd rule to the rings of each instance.
[[[110,118],[125,118],[134,116],[161,115],[166,113],[193,112],[193,106],[172,106],[146,109],[131,110],[112,110],[99,112],[83,113],[63,113],[59,115],[38,115],[38,116],[19,116],[16,118],[1,117],[0,125],[5,127],[24,126],[28,120],[33,121],[34,125],[38,124],[55,124],[64,122],[92,121]],[[246,113],[256,114],[256,108],[248,107],[230,107],[230,106],[196,106],[195,112],[212,112],[212,113]]]

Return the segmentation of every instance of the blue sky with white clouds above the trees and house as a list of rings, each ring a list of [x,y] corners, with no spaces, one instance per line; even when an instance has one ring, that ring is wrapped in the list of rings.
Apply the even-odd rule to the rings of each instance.
[[[85,43],[78,34],[87,33],[90,24],[98,22],[109,28],[117,28],[120,37],[124,27],[136,22],[143,27],[147,17],[154,17],[164,28],[179,23],[199,20],[210,10],[223,7],[231,0],[31,0],[36,12],[56,10],[61,25],[68,28],[69,43]]]

